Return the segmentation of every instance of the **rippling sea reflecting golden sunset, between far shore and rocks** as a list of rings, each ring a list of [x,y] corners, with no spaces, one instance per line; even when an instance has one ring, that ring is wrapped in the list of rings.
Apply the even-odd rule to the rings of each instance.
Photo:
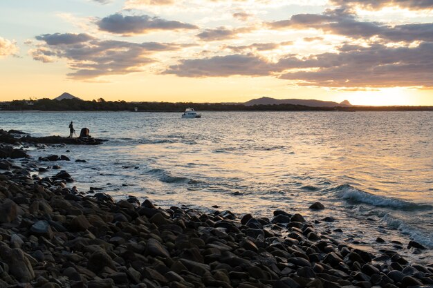
[[[117,199],[135,195],[161,207],[204,211],[217,205],[268,218],[281,209],[319,220],[317,229],[352,246],[396,250],[414,262],[433,258],[431,112],[202,115],[2,111],[0,128],[67,136],[73,121],[77,133],[86,127],[109,140],[30,148],[34,157],[70,157],[57,164],[83,192],[96,186]],[[308,209],[315,201],[326,209]],[[327,216],[335,222],[322,221]],[[414,255],[409,240],[428,249]]]

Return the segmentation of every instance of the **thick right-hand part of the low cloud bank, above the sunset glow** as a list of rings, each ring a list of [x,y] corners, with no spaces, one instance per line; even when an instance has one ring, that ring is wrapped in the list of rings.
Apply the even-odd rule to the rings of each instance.
[[[277,66],[282,69],[304,68],[279,76],[299,81],[298,84],[304,86],[433,87],[432,50],[432,43],[414,48],[351,46],[338,53],[323,53],[303,59],[291,55],[280,59]]]

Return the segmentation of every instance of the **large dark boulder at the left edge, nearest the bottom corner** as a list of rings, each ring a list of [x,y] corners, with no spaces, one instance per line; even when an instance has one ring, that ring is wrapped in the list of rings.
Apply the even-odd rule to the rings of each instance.
[[[9,273],[19,282],[30,282],[35,278],[33,267],[21,249],[2,246],[0,247],[0,258],[8,264]]]

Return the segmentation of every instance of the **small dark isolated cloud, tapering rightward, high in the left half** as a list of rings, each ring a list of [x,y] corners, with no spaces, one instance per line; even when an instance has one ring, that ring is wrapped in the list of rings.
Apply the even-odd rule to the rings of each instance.
[[[154,30],[197,29],[192,24],[180,21],[169,21],[158,17],[123,16],[120,13],[104,17],[96,21],[99,30],[121,35],[145,34]]]

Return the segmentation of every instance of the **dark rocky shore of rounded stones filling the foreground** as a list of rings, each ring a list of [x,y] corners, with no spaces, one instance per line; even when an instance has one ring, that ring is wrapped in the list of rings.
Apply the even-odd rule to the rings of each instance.
[[[351,247],[299,213],[116,202],[77,191],[66,171],[44,177],[49,160],[21,158],[0,161],[0,287],[433,287],[433,264]]]

